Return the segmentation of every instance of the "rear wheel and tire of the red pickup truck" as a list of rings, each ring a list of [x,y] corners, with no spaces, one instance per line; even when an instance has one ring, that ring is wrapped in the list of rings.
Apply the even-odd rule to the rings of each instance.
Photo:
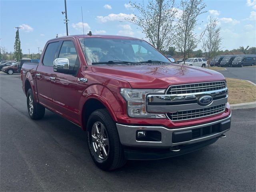
[[[27,107],[30,118],[37,120],[44,117],[45,108],[44,106],[37,103],[34,99],[34,95],[31,89],[27,92]]]

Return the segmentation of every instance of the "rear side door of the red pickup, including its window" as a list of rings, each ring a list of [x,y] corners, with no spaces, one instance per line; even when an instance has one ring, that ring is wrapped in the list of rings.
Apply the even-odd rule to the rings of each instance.
[[[57,57],[60,42],[50,42],[44,52],[42,61],[36,70],[36,85],[38,90],[38,100],[40,103],[52,106],[51,81],[53,72],[53,61]]]

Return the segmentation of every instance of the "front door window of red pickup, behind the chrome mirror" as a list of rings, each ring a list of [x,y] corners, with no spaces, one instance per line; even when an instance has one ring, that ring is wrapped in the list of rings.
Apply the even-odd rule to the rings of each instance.
[[[72,41],[64,41],[58,58],[67,58],[69,60],[70,69],[73,70],[74,66],[79,66],[79,59],[76,53],[75,45]]]

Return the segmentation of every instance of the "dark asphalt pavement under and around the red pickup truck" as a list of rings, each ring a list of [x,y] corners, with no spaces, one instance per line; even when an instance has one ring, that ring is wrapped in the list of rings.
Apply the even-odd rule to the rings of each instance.
[[[0,191],[256,190],[255,109],[233,110],[227,137],[202,150],[112,172],[94,165],[79,127],[49,110],[29,118],[20,74],[0,72],[0,109]]]

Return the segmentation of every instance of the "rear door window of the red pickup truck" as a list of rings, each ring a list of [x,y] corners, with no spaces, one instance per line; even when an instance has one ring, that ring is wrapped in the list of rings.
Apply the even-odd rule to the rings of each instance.
[[[59,42],[49,43],[44,53],[43,64],[45,66],[53,66],[53,61],[56,59]]]

